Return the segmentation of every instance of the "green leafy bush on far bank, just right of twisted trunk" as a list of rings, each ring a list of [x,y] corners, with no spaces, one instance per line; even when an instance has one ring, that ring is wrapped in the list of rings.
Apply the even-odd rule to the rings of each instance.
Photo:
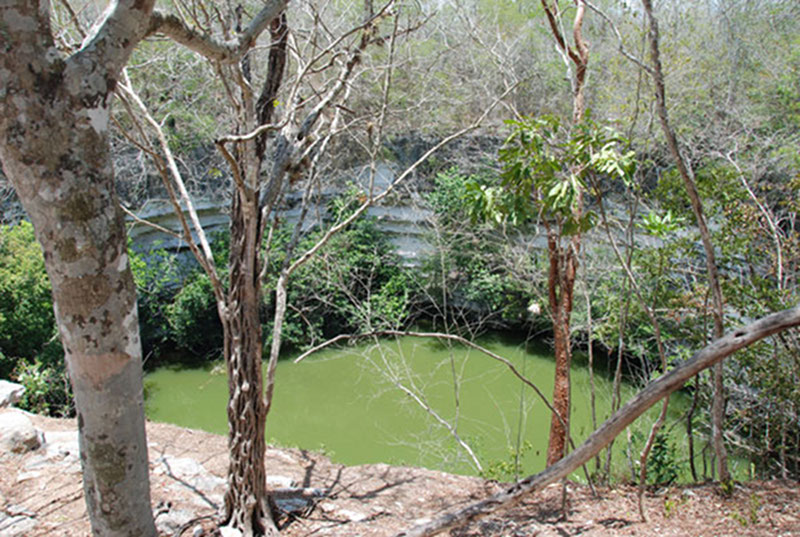
[[[331,201],[330,214],[335,221],[342,221],[361,199],[363,193],[351,187]],[[269,271],[273,277],[285,261],[292,227],[284,226],[274,239]],[[307,233],[296,251],[305,252],[321,236],[320,230]],[[269,282],[265,288],[271,288]],[[302,348],[341,333],[399,328],[406,323],[412,300],[409,276],[389,238],[374,218],[362,217],[293,274],[283,344]],[[271,309],[269,300],[267,304]],[[265,328],[269,343],[271,322]]]

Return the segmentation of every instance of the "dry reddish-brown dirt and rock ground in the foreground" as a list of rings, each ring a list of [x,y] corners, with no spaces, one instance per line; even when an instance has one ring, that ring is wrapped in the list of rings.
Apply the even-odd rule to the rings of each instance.
[[[46,443],[24,455],[0,455],[0,508],[12,535],[85,536],[89,525],[76,453],[75,422],[31,416]],[[162,535],[215,535],[224,491],[226,439],[172,425],[148,423],[151,487]],[[267,471],[274,487],[325,489],[311,503],[282,504],[281,534],[391,536],[500,489],[478,478],[420,468],[373,464],[346,467],[298,449],[270,449]],[[730,498],[713,485],[648,491],[643,522],[636,490],[600,490],[569,484],[569,513],[562,517],[562,486],[551,485],[511,509],[454,530],[454,537],[692,536],[800,537],[800,486],[796,482],[737,485]],[[14,518],[16,517],[16,518]],[[0,525],[0,527],[2,527]],[[6,528],[9,528],[7,525]]]

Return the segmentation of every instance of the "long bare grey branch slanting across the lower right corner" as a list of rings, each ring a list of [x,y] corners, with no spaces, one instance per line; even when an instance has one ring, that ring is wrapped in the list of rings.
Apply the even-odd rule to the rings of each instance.
[[[595,430],[578,449],[554,465],[538,474],[517,481],[514,485],[489,498],[458,511],[445,513],[426,524],[420,524],[401,532],[396,537],[430,537],[445,530],[463,526],[467,522],[489,515],[501,507],[513,505],[524,495],[539,491],[550,483],[568,476],[578,466],[599,453],[636,418],[683,386],[687,380],[721,362],[739,349],[798,325],[800,325],[800,305],[768,315],[717,339],[669,373],[648,384]]]

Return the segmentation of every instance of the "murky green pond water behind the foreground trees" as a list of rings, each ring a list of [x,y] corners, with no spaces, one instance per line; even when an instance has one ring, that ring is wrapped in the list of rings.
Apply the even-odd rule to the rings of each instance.
[[[542,348],[500,336],[481,344],[512,361],[548,397],[554,362]],[[602,373],[602,372],[601,372]],[[299,364],[282,361],[275,399],[267,421],[270,443],[323,451],[334,461],[410,464],[458,473],[477,473],[452,434],[419,402],[397,387],[417,394],[440,418],[457,426],[484,468],[510,462],[510,450],[523,449],[521,472],[544,467],[550,415],[540,398],[508,368],[485,354],[431,339],[412,337],[329,350]],[[592,431],[588,369],[579,359],[572,369],[572,436],[582,441]],[[199,369],[162,368],[145,379],[151,420],[227,432],[227,380],[219,365]],[[457,387],[457,389],[456,389]],[[595,374],[598,420],[611,404],[611,380]],[[623,386],[623,400],[634,388]],[[669,423],[679,419],[686,396],[673,396]],[[657,405],[660,407],[660,405]],[[646,435],[657,410],[632,426],[633,437]],[[638,431],[638,432],[637,432]],[[672,427],[671,445],[685,446],[682,425]],[[624,464],[626,435],[617,442],[616,473]],[[640,442],[634,446],[638,457]]]

